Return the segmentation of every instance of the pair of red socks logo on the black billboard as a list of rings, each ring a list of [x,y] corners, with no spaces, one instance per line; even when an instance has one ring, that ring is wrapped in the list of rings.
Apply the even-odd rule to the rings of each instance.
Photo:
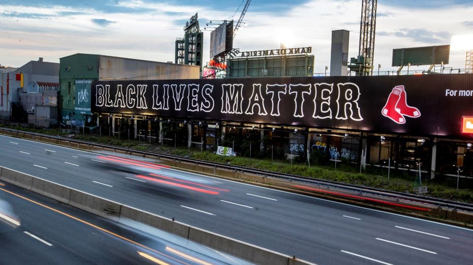
[[[421,116],[419,109],[407,105],[404,86],[396,86],[389,94],[388,101],[381,111],[383,116],[388,117],[395,123],[405,123],[404,116],[417,118]]]

